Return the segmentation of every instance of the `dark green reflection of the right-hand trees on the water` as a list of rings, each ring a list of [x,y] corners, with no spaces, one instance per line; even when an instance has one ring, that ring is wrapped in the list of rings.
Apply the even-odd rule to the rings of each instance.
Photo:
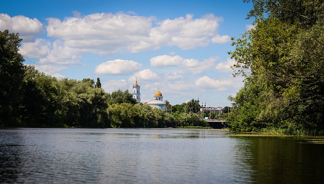
[[[236,137],[251,140],[239,146],[251,180],[256,183],[318,183],[324,179],[323,145],[301,144],[294,137]],[[247,156],[244,158],[244,156]]]

